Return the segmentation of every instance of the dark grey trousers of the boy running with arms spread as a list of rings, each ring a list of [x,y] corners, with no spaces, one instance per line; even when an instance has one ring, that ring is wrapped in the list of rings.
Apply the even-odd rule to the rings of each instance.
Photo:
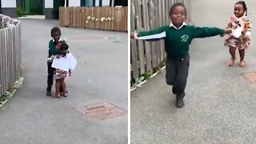
[[[178,98],[184,98],[186,79],[189,74],[190,55],[185,58],[167,58],[166,83],[173,86],[174,94]]]

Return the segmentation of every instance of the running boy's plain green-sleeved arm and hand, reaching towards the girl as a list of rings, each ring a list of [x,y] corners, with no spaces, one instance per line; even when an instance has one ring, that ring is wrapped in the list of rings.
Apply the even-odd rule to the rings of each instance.
[[[217,27],[196,27],[193,28],[193,38],[207,38],[216,35],[230,34],[232,29],[219,29]]]

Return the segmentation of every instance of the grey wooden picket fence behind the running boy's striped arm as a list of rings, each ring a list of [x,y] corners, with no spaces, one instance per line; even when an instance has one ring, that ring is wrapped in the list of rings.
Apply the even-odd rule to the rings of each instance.
[[[159,26],[170,25],[170,6],[176,2],[183,2],[188,8],[188,0],[131,0],[130,31],[153,30]],[[164,42],[131,40],[130,57],[130,78],[131,82],[136,82],[146,72],[154,72],[154,68],[164,61]]]

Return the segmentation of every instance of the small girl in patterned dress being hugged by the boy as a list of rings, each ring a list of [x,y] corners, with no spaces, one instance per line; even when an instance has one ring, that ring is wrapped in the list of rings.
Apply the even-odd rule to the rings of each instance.
[[[56,45],[56,49],[57,50],[67,50],[68,49],[68,45],[66,44],[65,41],[60,41],[57,43]],[[58,54],[56,55],[56,58],[61,58],[61,57],[65,57],[66,54]],[[60,70],[60,69],[56,69],[54,71],[55,74],[55,89],[56,89],[56,93],[55,96],[57,98],[60,98],[61,95],[64,97],[67,97],[67,92],[66,92],[66,82],[65,82],[65,78],[68,76],[68,72],[64,71],[64,70]],[[62,93],[60,93],[60,88],[62,87]]]

